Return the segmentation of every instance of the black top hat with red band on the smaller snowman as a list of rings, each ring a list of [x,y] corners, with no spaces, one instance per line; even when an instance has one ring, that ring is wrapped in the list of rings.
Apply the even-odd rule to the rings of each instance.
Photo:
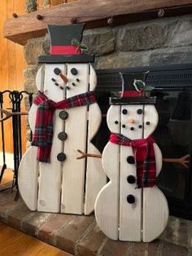
[[[145,73],[120,73],[122,81],[122,92],[120,98],[111,98],[110,104],[126,105],[126,104],[155,104],[156,98],[150,97],[150,93],[144,90],[136,90],[135,81],[145,85]]]

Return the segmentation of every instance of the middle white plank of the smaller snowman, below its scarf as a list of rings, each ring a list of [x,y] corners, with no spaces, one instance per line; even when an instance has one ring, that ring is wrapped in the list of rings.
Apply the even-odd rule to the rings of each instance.
[[[142,189],[127,181],[129,175],[137,180],[136,165],[127,162],[129,156],[132,148],[120,146],[120,241],[142,241]],[[135,203],[128,203],[128,195],[135,197]]]

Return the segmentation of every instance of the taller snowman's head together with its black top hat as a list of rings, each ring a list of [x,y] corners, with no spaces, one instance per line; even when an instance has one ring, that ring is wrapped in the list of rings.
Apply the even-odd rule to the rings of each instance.
[[[84,27],[48,25],[50,55],[38,57],[38,63],[45,65],[37,73],[37,88],[49,99],[68,98],[89,90],[89,62],[94,62],[94,55],[83,53]]]

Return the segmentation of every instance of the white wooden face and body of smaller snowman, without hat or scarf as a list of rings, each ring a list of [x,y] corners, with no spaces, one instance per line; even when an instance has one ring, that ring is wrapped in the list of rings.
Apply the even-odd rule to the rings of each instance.
[[[155,130],[158,113],[151,104],[111,105],[107,125],[112,133],[129,139],[145,139]],[[147,125],[146,125],[147,124]],[[156,175],[162,155],[154,143]],[[98,226],[112,240],[153,241],[168,222],[168,203],[156,186],[136,188],[133,148],[108,142],[103,151],[103,168],[110,181],[98,193],[95,215]],[[129,197],[134,202],[129,201]]]

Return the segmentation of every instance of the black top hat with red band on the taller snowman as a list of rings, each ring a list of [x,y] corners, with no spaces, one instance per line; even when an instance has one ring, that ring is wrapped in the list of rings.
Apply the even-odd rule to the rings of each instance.
[[[50,55],[38,57],[38,63],[94,62],[94,55],[84,54],[80,47],[85,24],[48,25]],[[72,45],[75,41],[77,45]]]

